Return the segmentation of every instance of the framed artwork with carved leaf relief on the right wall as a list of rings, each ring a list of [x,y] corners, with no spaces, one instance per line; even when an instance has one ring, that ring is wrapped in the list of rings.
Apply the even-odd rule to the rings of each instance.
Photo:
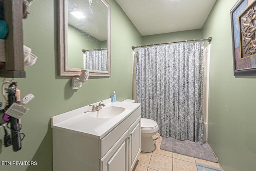
[[[230,15],[234,76],[255,76],[256,0],[238,0]]]

